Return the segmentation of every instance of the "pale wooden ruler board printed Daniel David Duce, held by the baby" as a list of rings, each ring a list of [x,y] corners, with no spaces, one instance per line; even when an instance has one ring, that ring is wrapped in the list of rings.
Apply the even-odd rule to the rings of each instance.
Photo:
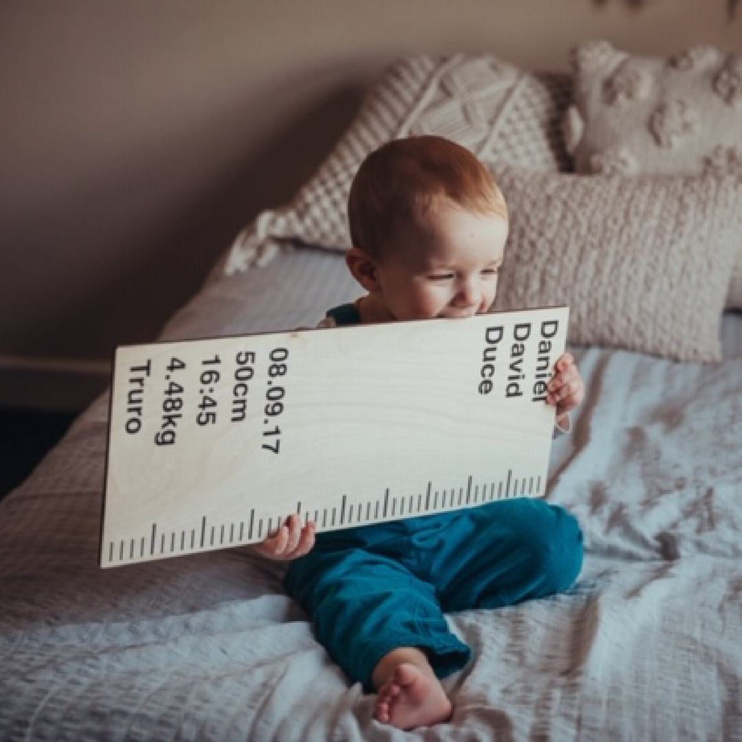
[[[116,349],[100,565],[545,494],[568,308]]]

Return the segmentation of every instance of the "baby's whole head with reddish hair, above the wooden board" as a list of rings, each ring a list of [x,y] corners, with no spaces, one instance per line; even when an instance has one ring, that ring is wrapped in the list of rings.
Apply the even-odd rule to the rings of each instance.
[[[372,152],[350,188],[347,263],[387,319],[486,312],[508,237],[490,171],[443,137],[396,139]]]

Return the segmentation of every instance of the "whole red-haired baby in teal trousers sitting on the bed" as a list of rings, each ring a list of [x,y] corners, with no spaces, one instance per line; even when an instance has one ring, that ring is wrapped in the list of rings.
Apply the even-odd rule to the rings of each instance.
[[[347,265],[367,293],[330,309],[320,326],[490,309],[508,211],[492,175],[467,149],[428,136],[381,146],[353,180],[348,215]],[[557,426],[568,429],[569,411],[584,396],[568,353],[549,390]],[[294,515],[255,549],[291,560],[287,591],[348,677],[375,689],[375,718],[401,729],[453,712],[440,678],[462,669],[470,648],[444,612],[554,594],[570,587],[582,566],[577,520],[531,498],[316,535],[313,523],[302,528]]]

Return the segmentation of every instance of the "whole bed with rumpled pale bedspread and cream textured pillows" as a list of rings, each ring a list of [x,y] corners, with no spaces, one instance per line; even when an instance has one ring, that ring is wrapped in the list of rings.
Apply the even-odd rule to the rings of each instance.
[[[386,70],[318,173],[246,227],[162,339],[315,325],[358,296],[342,209],[364,152],[424,132],[469,146],[510,203],[498,306],[566,295],[573,309],[586,398],[554,441],[548,499],[585,534],[574,588],[450,614],[476,655],[444,680],[453,718],[382,725],[280,564],[233,548],[98,567],[104,394],[0,503],[1,740],[742,740],[741,59],[598,42],[573,64]],[[680,77],[686,105],[668,94]],[[691,94],[718,104],[712,131]],[[630,118],[652,106],[642,139]]]

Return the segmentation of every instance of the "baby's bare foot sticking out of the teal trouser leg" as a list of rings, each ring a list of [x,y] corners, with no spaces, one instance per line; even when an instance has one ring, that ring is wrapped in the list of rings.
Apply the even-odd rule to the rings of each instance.
[[[378,689],[374,716],[399,729],[445,721],[453,706],[435,675],[412,663],[401,663]]]

